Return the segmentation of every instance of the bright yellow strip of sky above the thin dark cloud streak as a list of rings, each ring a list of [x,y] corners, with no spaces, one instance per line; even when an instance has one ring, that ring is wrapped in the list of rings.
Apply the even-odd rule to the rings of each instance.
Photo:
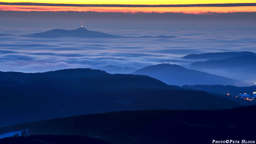
[[[51,3],[51,4],[146,4],[146,5],[159,5],[159,4],[239,4],[239,3],[255,3],[255,0],[2,0],[1,2],[7,3]]]

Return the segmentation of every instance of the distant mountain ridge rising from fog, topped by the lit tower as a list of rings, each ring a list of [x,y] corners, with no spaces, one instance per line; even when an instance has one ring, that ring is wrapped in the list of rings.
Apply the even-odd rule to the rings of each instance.
[[[15,36],[9,34],[0,34],[0,36]],[[80,27],[73,30],[65,29],[53,29],[42,33],[35,33],[30,35],[20,35],[23,37],[36,37],[36,38],[56,38],[56,37],[79,37],[79,38],[174,38],[176,36],[115,36],[102,32],[87,30],[84,27]]]

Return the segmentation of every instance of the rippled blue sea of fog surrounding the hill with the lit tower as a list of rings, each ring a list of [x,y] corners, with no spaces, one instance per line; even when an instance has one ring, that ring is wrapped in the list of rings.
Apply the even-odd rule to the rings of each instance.
[[[1,23],[0,33],[25,35],[55,28],[76,29],[80,21],[58,20]],[[49,24],[49,23],[52,24]],[[63,22],[63,21],[62,21]],[[12,24],[11,24],[12,23]],[[106,65],[143,68],[169,62],[186,66],[180,57],[206,52],[256,52],[255,22],[247,21],[84,21],[84,28],[117,36],[176,36],[177,38],[28,38],[0,37],[0,71],[44,72]]]

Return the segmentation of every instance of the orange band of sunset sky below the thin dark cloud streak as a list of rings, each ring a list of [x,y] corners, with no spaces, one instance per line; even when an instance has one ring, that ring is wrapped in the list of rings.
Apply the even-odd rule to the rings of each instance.
[[[238,7],[77,7],[77,6],[25,6],[0,5],[3,11],[76,11],[76,12],[181,12],[181,13],[207,13],[207,12],[256,12],[256,6]]]

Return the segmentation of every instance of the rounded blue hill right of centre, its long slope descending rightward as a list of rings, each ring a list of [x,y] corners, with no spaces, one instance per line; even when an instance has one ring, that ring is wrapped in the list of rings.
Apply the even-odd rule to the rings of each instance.
[[[222,76],[211,75],[205,72],[187,69],[175,64],[158,64],[141,68],[132,74],[151,76],[172,85],[195,84],[244,84],[243,81],[229,79]]]

